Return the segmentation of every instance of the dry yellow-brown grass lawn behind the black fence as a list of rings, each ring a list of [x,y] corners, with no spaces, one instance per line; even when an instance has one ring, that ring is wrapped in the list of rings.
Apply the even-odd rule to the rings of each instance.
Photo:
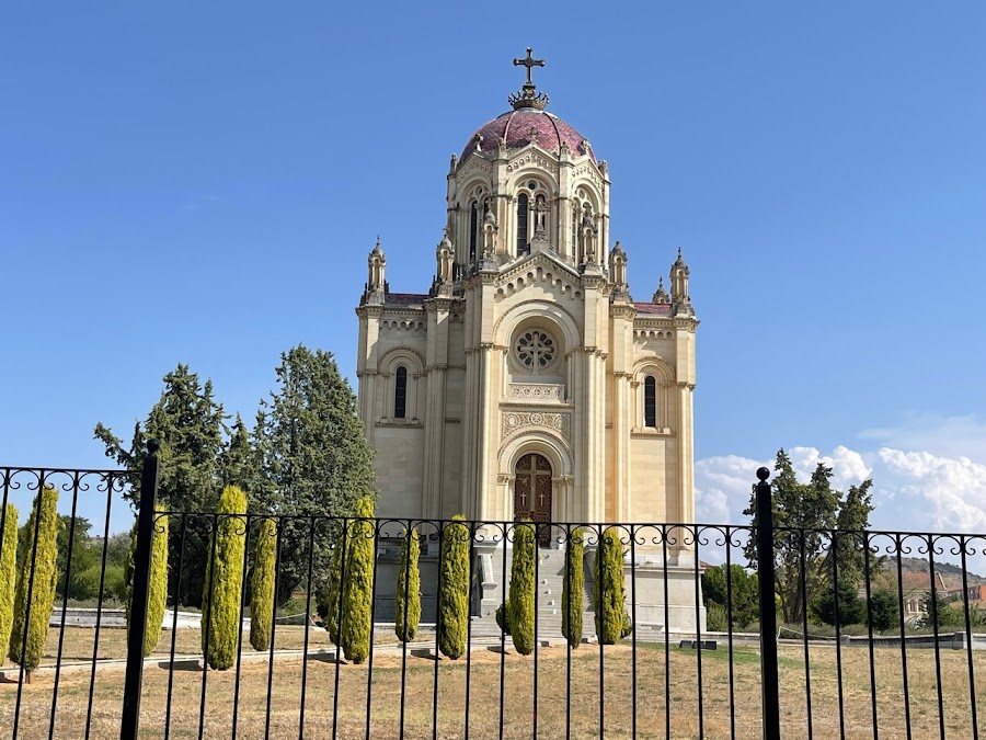
[[[89,633],[88,638],[85,633]],[[57,630],[53,630],[53,635],[54,645],[49,647],[57,649]],[[300,627],[278,629],[277,635],[279,648],[301,647],[303,641],[303,629]],[[101,633],[100,657],[122,657],[123,637],[123,630]],[[181,630],[175,637],[179,654],[191,656],[198,652],[197,631]],[[170,638],[170,633],[165,633],[159,648],[167,651]],[[509,642],[507,646],[509,647]],[[239,676],[238,702],[234,702],[234,670],[203,673],[197,662],[187,658],[177,661],[173,670],[169,668],[167,659],[148,664],[144,678],[141,737],[163,738],[167,727],[171,738],[197,738],[202,722],[204,737],[231,738],[236,706],[236,737],[297,738],[300,729],[303,667],[307,667],[306,738],[331,738],[333,732],[339,738],[367,737],[368,696],[369,737],[400,736],[402,697],[404,737],[432,737],[433,721],[437,724],[439,738],[465,737],[467,682],[470,691],[469,735],[472,738],[498,737],[501,722],[506,738],[532,737],[535,706],[539,738],[566,737],[566,722],[571,728],[571,737],[599,737],[600,695],[605,696],[601,717],[605,737],[629,738],[634,729],[634,664],[638,737],[665,738],[669,735],[672,738],[729,738],[731,716],[735,721],[736,738],[756,738],[760,730],[759,656],[753,647],[744,646],[734,651],[732,669],[735,690],[732,697],[731,661],[724,646],[720,646],[718,651],[701,653],[701,692],[698,686],[698,660],[692,651],[672,647],[665,652],[663,644],[639,644],[634,659],[629,642],[607,647],[603,656],[605,684],[600,687],[598,647],[584,645],[573,651],[571,674],[564,648],[542,648],[537,663],[537,703],[534,701],[532,657],[524,658],[512,651],[501,656],[485,648],[477,648],[468,665],[465,658],[455,662],[442,660],[436,664],[428,657],[414,656],[409,651],[406,671],[403,672],[405,685],[402,690],[402,656],[394,648],[381,650],[375,656],[370,673],[367,665],[336,664],[325,660],[325,656],[320,656],[317,651],[326,647],[324,633],[313,629],[310,650],[314,654],[310,654],[306,662],[300,657],[279,658],[274,662],[274,670],[268,671],[266,660],[244,661]],[[419,650],[415,649],[415,652]],[[804,738],[807,737],[807,707],[804,698],[805,668],[802,648],[782,646],[780,652],[782,736],[786,739]],[[91,660],[92,630],[67,629],[64,654],[66,660]],[[964,651],[941,652],[943,721],[949,738],[972,737],[966,660]],[[669,671],[666,671],[665,661],[669,663]],[[910,737],[938,738],[935,652],[910,650],[907,663]],[[983,719],[986,717],[986,654],[975,653],[974,665],[979,726],[981,731],[986,733],[986,720]],[[838,738],[839,682],[836,678],[834,646],[813,647],[810,667],[814,737],[819,740]],[[5,681],[12,682],[0,683],[0,738],[11,737],[18,693],[16,670],[9,669],[9,665],[4,669],[8,676]],[[899,651],[878,650],[875,672],[880,737],[887,740],[908,737]],[[89,720],[87,708],[92,675],[90,670],[67,670],[61,673],[54,737],[84,737],[88,721],[91,724],[92,738],[118,736],[124,671],[104,667],[95,672],[94,704]],[[570,675],[571,684],[567,682]],[[842,721],[848,738],[873,737],[869,675],[868,651],[861,648],[844,649]],[[38,671],[33,682],[23,687],[19,738],[48,737],[54,678],[54,671]],[[170,681],[172,699],[169,705],[167,696]],[[268,681],[272,687],[270,713]],[[204,713],[203,688],[206,697]],[[666,701],[667,693],[669,703]],[[566,715],[566,707],[571,707],[570,716]]]

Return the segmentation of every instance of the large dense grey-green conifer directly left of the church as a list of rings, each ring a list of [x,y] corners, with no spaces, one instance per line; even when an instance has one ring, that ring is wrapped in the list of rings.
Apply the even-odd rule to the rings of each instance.
[[[329,352],[296,346],[280,355],[277,389],[263,402],[254,440],[271,505],[298,516],[349,516],[376,497],[372,451],[356,413],[356,395]],[[285,522],[278,602],[308,576],[308,524]],[[332,532],[316,533],[314,572],[329,570]]]

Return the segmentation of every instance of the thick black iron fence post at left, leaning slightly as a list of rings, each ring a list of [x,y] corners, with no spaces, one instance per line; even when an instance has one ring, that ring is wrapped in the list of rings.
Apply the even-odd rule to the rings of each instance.
[[[121,740],[136,740],[140,724],[140,688],[144,680],[144,640],[147,634],[147,602],[150,593],[151,550],[154,511],[158,501],[157,440],[148,440],[140,478],[140,505],[137,510],[137,547],[134,550],[134,583],[130,597],[130,629],[127,631],[127,674],[121,717]]]

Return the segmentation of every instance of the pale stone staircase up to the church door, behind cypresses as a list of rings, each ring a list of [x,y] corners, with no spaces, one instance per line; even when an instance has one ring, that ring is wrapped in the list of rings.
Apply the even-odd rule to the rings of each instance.
[[[493,554],[493,573],[496,581],[503,580],[504,572],[504,550],[498,549]],[[506,574],[507,583],[509,582],[511,561],[513,551],[506,550]],[[587,570],[587,569],[586,569]],[[537,570],[537,608],[538,608],[538,637],[542,639],[562,639],[562,582],[565,572],[565,551],[558,549],[539,548],[538,549],[538,570]],[[508,593],[508,587],[505,591],[497,590],[498,593]],[[583,635],[586,637],[594,634],[593,612],[589,611],[588,595],[592,592],[592,583],[589,582],[588,572],[585,579],[585,599],[583,601]],[[500,596],[502,599],[502,596]],[[498,605],[498,604],[497,604]],[[500,627],[496,625],[495,607],[485,610],[481,617],[473,617],[472,634],[475,636],[500,636]]]

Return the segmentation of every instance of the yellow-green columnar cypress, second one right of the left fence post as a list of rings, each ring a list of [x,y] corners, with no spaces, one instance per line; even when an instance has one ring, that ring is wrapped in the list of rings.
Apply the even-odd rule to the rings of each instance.
[[[234,664],[239,642],[246,494],[236,486],[227,486],[219,497],[217,513],[215,543],[209,543],[209,554],[215,557],[206,567],[202,597],[202,651],[210,668],[225,671]]]

